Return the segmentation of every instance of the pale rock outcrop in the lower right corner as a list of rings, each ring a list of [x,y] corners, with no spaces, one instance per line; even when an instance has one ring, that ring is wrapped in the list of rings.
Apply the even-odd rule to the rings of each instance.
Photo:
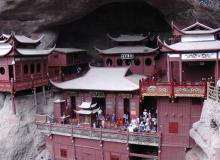
[[[214,122],[214,124],[213,124]],[[220,104],[210,99],[204,101],[201,118],[193,124],[190,136],[196,144],[187,160],[194,155],[198,160],[220,159]]]

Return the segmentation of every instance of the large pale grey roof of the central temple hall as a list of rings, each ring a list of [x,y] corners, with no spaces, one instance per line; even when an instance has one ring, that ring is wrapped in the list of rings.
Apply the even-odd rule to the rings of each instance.
[[[127,67],[91,67],[82,77],[66,82],[51,83],[64,90],[94,90],[94,91],[134,91],[139,89],[137,80],[126,76]]]

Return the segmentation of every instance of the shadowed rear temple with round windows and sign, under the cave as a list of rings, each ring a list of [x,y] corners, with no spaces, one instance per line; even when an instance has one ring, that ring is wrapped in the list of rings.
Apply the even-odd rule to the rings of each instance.
[[[120,35],[108,37],[116,44],[115,47],[101,50],[96,48],[103,59],[105,67],[130,66],[130,70],[136,74],[151,76],[156,66],[154,58],[158,48],[147,47],[150,35]]]

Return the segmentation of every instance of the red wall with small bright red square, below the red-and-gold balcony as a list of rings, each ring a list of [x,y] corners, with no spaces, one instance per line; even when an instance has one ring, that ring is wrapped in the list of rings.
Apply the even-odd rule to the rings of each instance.
[[[198,101],[196,100],[198,103]],[[189,137],[192,123],[199,120],[202,104],[192,98],[178,98],[170,103],[169,98],[158,98],[158,130],[162,132],[161,158],[184,160],[185,148],[193,141]],[[172,153],[172,154],[171,154]]]

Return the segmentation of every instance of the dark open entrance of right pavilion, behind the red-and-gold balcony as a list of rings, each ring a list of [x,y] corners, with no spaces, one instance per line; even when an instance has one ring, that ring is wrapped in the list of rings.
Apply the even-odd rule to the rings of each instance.
[[[182,69],[183,82],[213,81],[215,79],[215,62],[212,61],[183,62]]]

